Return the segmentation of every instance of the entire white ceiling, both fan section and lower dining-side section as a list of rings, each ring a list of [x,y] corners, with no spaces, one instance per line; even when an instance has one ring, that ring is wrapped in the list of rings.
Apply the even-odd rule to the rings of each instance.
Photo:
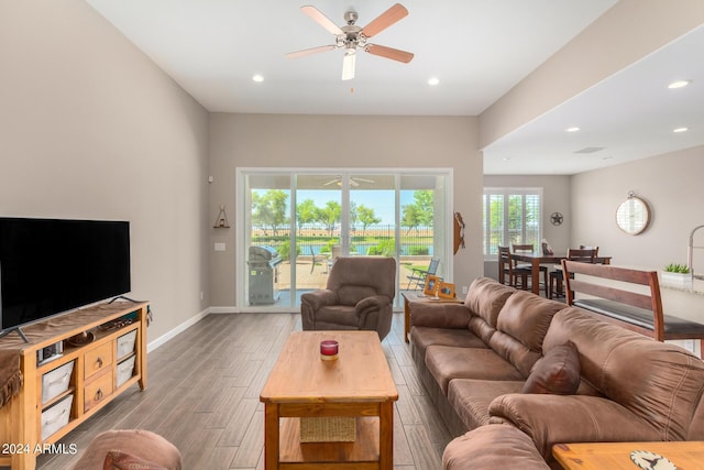
[[[314,4],[339,25],[352,9],[364,26],[391,0],[87,2],[209,111],[477,116],[616,0],[403,0],[409,15],[371,42],[414,61],[361,53],[350,81],[340,80],[342,51],[284,56],[333,44],[299,8]],[[704,30],[493,143],[485,174],[574,174],[703,144],[703,47]],[[429,86],[430,77],[440,84]],[[681,77],[693,85],[678,95],[664,88]],[[582,131],[566,134],[569,125]],[[673,135],[680,125],[690,132]],[[587,146],[605,150],[574,155]]]

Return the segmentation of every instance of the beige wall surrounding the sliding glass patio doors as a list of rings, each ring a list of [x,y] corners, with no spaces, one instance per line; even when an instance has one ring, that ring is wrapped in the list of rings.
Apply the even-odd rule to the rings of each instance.
[[[482,160],[475,118],[228,114],[210,117],[210,217],[234,208],[237,167],[451,167],[454,210],[465,216],[466,249],[454,256],[454,282],[483,272]],[[234,219],[234,214],[228,214]],[[237,227],[211,229],[211,305],[235,306]],[[224,242],[227,251],[215,252]]]

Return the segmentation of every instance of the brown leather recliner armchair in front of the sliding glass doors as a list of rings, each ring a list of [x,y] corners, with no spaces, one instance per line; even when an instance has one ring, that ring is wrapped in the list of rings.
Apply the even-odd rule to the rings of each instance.
[[[339,258],[324,289],[300,296],[304,330],[371,330],[383,340],[392,328],[396,294],[393,258]]]

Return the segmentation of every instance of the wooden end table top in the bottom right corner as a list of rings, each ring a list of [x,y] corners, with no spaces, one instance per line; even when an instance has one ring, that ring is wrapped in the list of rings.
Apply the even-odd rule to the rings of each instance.
[[[634,450],[657,453],[670,460],[678,469],[698,469],[704,462],[704,442],[669,441],[669,442],[583,442],[558,444],[552,447],[552,455],[565,470],[638,470],[630,459]],[[646,457],[657,460],[657,457]],[[664,462],[653,461],[653,469],[664,469]],[[646,466],[648,468],[648,466]]]

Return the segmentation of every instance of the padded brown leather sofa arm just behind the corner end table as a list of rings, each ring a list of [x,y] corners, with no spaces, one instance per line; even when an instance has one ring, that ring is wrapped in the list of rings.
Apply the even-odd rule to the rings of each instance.
[[[495,398],[488,413],[490,423],[510,423],[530,436],[548,461],[556,444],[662,440],[648,422],[600,396],[512,393]]]

